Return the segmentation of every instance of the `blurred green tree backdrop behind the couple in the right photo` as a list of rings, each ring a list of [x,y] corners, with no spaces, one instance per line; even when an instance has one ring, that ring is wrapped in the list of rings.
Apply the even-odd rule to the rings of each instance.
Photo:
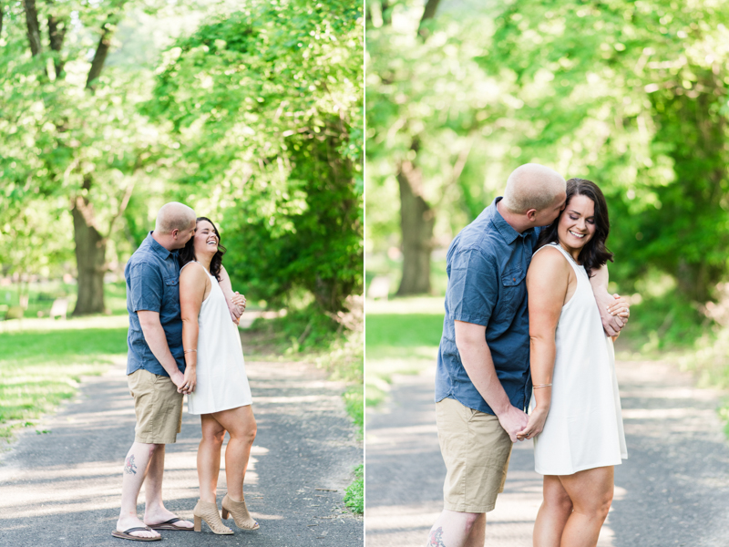
[[[727,15],[709,0],[368,3],[367,279],[442,293],[448,243],[535,161],[601,185],[611,281],[653,334],[693,340],[727,273]]]

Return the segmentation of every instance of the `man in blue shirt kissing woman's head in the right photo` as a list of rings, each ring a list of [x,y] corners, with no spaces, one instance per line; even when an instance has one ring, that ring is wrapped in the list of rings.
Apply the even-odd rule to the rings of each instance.
[[[517,433],[528,422],[529,318],[525,278],[539,227],[564,208],[566,181],[528,163],[458,233],[447,253],[446,317],[436,368],[436,421],[447,476],[444,510],[428,546],[483,547],[486,513],[503,490]],[[608,307],[607,268],[590,279],[603,325],[623,322]]]

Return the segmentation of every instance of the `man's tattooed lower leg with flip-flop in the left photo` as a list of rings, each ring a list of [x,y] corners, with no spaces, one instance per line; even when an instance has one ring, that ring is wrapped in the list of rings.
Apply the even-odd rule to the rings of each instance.
[[[124,532],[129,528],[143,528],[146,524],[139,520],[137,515],[137,499],[139,498],[139,490],[147,476],[149,461],[155,452],[155,447],[159,445],[135,442],[131,445],[124,459],[124,472],[121,480],[121,511],[119,511],[119,519],[117,521],[118,532]],[[164,445],[162,445],[164,449]],[[131,532],[131,535],[152,538],[158,537],[158,532],[148,532],[146,530]]]

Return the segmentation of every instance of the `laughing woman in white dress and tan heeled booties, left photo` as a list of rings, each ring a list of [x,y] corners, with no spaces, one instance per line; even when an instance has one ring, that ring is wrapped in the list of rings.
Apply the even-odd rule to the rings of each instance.
[[[198,449],[200,501],[192,511],[195,532],[201,521],[218,534],[233,533],[218,513],[216,487],[221,470],[221,447],[225,432],[231,440],[225,449],[228,493],[222,500],[222,518],[232,515],[242,530],[257,530],[258,522],[248,512],[243,498],[243,480],[248,467],[256,420],[251,408],[251,388],[238,329],[220,283],[227,281],[222,267],[221,237],[209,219],[197,219],[194,237],[180,253],[180,309],[182,344],[187,366],[188,412],[199,414],[202,440]]]

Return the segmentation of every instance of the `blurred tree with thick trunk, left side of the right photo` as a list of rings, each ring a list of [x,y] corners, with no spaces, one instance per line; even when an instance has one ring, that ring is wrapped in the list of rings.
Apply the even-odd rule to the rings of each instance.
[[[473,26],[456,24],[448,16],[433,21],[436,5],[401,4],[398,30],[386,26],[383,17],[367,35],[367,209],[390,207],[385,194],[393,192],[386,188],[396,184],[403,249],[400,295],[430,291],[438,219],[462,225],[464,209],[470,214],[477,201],[471,198],[482,197],[478,168],[490,158],[479,149],[490,146],[494,120],[516,100],[477,62],[483,48],[475,44],[490,26],[480,19]],[[375,237],[393,228],[379,223],[382,212],[373,215],[368,225]]]

